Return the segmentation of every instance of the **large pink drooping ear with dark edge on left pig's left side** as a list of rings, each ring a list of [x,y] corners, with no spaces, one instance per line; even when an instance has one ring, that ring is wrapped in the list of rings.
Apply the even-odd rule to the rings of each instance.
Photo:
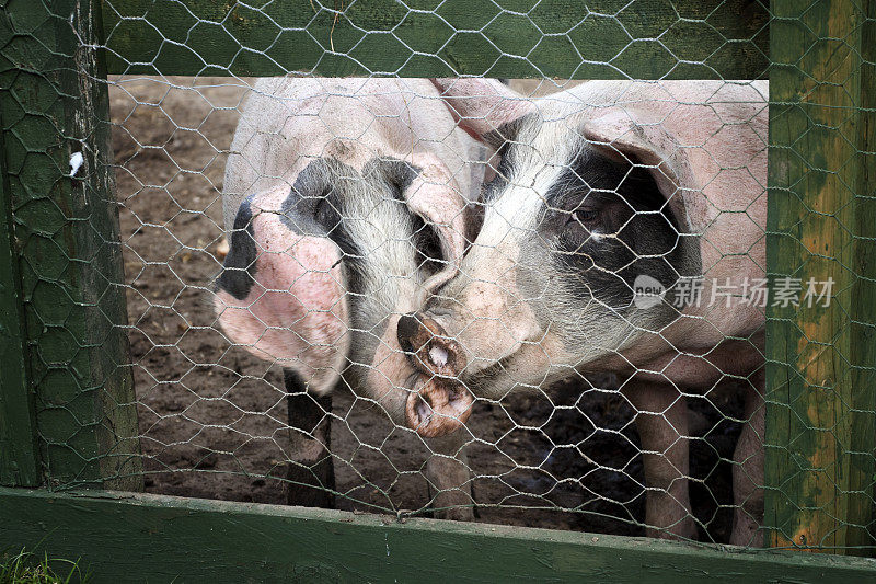
[[[328,238],[292,231],[280,210],[290,191],[266,191],[241,205],[214,306],[233,343],[324,393],[349,345],[342,252]]]

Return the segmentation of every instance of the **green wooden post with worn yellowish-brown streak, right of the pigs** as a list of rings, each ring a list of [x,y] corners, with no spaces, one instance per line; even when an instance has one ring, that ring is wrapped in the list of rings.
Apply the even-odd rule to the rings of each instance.
[[[773,546],[872,553],[876,114],[862,25],[876,2],[771,5],[768,272],[834,284],[829,307],[766,311],[765,524]]]

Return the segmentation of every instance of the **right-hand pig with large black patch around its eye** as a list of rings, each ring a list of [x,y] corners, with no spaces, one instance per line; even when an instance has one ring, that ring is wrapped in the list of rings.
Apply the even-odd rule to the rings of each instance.
[[[730,541],[760,545],[764,313],[707,300],[713,282],[764,277],[766,83],[591,81],[539,99],[485,79],[435,83],[495,152],[495,176],[458,273],[400,319],[399,345],[424,374],[491,400],[620,374],[647,531],[664,538],[696,535],[685,396],[742,381]],[[699,276],[705,301],[684,291]],[[641,278],[656,290],[646,302]]]

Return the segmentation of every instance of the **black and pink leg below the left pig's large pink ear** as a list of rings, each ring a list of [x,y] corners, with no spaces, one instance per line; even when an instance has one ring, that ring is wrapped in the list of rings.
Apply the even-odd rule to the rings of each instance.
[[[332,396],[308,393],[295,371],[285,369],[289,421],[289,471],[286,504],[333,508]]]

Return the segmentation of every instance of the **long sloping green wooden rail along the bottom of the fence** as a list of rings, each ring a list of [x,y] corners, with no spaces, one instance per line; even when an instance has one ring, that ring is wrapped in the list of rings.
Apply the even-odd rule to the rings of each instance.
[[[876,560],[339,511],[0,489],[0,549],[93,582],[867,582]]]

